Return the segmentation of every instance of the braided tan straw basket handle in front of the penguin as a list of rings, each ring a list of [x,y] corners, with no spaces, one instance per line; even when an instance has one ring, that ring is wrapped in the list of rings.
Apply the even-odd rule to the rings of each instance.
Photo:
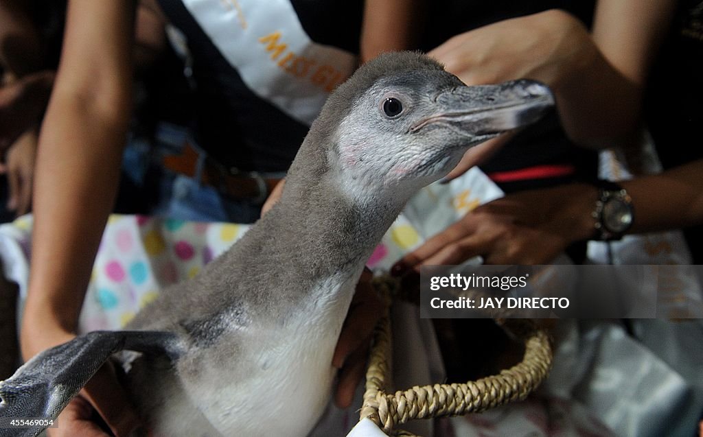
[[[375,285],[381,292],[388,292],[392,285],[387,282],[381,279]],[[390,435],[395,426],[412,419],[465,415],[526,398],[547,376],[551,366],[552,348],[548,334],[531,320],[504,319],[497,322],[524,342],[522,362],[477,381],[414,386],[389,394],[386,391],[390,386],[388,378],[392,365],[388,306],[374,333],[361,419],[368,417]],[[404,431],[398,431],[396,435],[411,436]]]

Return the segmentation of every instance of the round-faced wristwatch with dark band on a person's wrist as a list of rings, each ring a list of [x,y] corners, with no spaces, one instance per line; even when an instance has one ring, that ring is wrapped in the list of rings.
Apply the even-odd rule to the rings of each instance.
[[[595,209],[591,213],[595,218],[595,240],[620,240],[635,219],[632,198],[617,183],[598,180],[595,185],[599,191]]]

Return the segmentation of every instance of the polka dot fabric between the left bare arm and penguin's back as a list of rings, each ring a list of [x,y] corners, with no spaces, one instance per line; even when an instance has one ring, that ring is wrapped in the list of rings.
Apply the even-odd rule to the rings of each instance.
[[[82,331],[124,326],[161,289],[197,275],[248,226],[111,216],[93,266]]]

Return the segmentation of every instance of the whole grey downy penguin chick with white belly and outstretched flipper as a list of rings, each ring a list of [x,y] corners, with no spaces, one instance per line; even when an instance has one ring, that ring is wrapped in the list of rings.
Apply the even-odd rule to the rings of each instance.
[[[467,148],[552,106],[535,81],[465,86],[418,53],[363,65],[312,124],[280,201],[241,240],[129,331],[30,360],[1,383],[0,413],[56,417],[111,353],[131,348],[127,387],[157,435],[306,436],[330,398],[356,282],[404,204]]]

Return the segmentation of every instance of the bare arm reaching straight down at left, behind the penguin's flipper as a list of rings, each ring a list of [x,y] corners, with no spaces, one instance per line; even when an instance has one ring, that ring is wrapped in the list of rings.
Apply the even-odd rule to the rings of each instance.
[[[63,53],[39,138],[32,269],[20,338],[25,358],[67,341],[77,328],[117,188],[131,109],[132,35],[125,30],[133,27],[132,2],[69,1]],[[93,395],[119,397],[110,389]],[[113,413],[103,416],[125,435],[133,413]]]

